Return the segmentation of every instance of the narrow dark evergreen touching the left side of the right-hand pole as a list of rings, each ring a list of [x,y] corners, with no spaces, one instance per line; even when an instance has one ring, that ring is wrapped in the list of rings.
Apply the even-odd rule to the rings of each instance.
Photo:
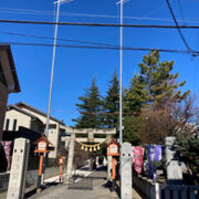
[[[105,127],[115,128],[118,122],[118,109],[119,109],[119,82],[117,72],[115,71],[112,81],[109,81],[108,91],[104,98],[105,114]]]

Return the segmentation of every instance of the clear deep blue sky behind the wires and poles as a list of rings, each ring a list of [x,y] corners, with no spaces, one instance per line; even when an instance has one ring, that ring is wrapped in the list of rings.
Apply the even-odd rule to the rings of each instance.
[[[54,21],[52,0],[0,0],[0,19]],[[199,1],[170,0],[180,24],[199,24]],[[124,4],[124,23],[134,24],[174,24],[165,0],[130,0]],[[119,8],[115,0],[74,0],[61,4],[60,21],[117,23]],[[8,24],[0,23],[0,42],[38,42],[52,43],[51,40],[8,35],[3,32],[53,36],[53,25]],[[199,50],[198,30],[184,30],[188,44]],[[96,27],[59,27],[59,38],[119,44],[118,28]],[[75,44],[59,41],[64,44]],[[135,48],[161,48],[186,50],[176,30],[164,29],[124,29],[124,45]],[[21,93],[11,94],[9,104],[23,101],[43,112],[48,109],[49,84],[52,62],[52,48],[11,45],[15,67],[21,85]],[[138,71],[138,63],[147,52],[124,52],[124,86]],[[199,94],[198,57],[189,55],[161,53],[160,60],[175,61],[174,72],[179,72],[179,81],[186,80],[185,90]],[[107,90],[107,82],[119,64],[119,52],[109,50],[57,49],[53,84],[51,115],[72,125],[77,117],[75,103],[83,95],[83,88],[91,85],[94,76],[101,94]],[[198,104],[198,101],[197,101]]]

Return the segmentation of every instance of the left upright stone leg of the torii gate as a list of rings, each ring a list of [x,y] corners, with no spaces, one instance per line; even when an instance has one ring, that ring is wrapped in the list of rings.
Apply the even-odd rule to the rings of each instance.
[[[74,159],[74,145],[75,145],[75,134],[71,134],[69,155],[67,155],[67,170],[66,170],[66,180],[72,176],[73,169],[73,159]]]

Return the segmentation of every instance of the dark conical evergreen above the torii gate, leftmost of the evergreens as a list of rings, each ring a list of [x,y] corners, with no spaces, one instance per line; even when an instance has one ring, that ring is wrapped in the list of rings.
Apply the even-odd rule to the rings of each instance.
[[[84,96],[78,97],[82,103],[75,104],[80,117],[72,121],[76,122],[75,127],[77,128],[101,128],[102,100],[96,86],[96,78],[93,78],[91,87],[84,91]]]

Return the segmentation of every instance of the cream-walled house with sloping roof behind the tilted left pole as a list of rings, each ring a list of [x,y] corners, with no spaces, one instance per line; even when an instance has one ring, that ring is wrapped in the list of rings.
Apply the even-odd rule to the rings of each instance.
[[[25,127],[34,132],[44,133],[46,125],[46,114],[23,102],[10,105],[6,113],[4,130],[18,130],[19,127]],[[61,136],[65,134],[65,124],[54,117],[50,117],[49,137],[54,150],[50,151],[50,158],[57,157],[57,150],[61,146]]]

